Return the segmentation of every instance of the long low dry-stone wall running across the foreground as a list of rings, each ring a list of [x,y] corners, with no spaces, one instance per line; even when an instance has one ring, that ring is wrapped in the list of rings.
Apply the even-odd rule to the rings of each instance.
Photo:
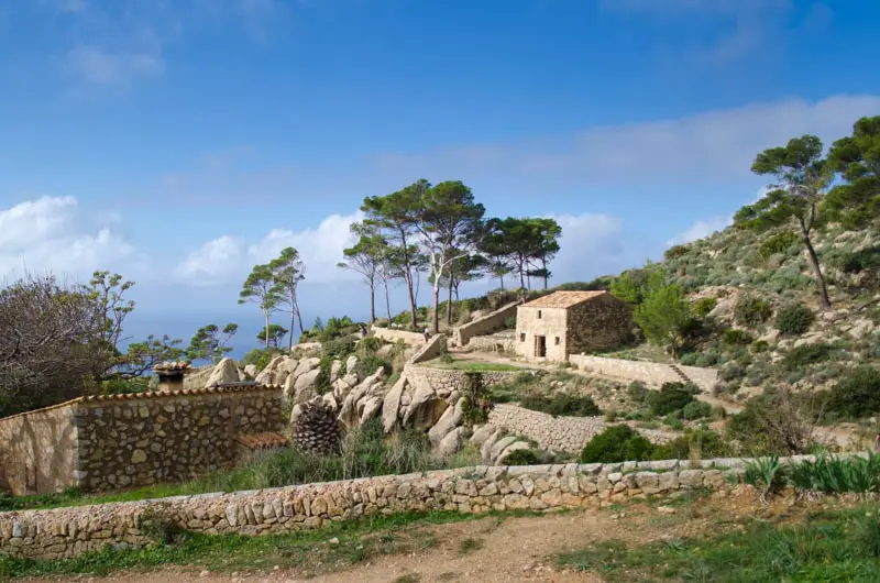
[[[207,535],[310,530],[405,512],[598,507],[646,495],[732,488],[744,460],[475,466],[239,493],[0,514],[0,554],[59,559],[147,543],[143,519]]]

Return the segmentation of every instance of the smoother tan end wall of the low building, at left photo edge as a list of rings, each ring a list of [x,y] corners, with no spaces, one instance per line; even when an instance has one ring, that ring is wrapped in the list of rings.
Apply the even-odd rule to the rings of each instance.
[[[0,419],[0,490],[21,496],[76,485],[76,441],[70,403]]]

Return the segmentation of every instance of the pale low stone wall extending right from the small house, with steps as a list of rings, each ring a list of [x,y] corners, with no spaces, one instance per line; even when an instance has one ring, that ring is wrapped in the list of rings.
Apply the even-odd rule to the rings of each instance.
[[[669,364],[646,361],[627,361],[623,359],[605,359],[585,354],[572,354],[569,362],[584,371],[616,376],[627,381],[640,381],[649,386],[659,387],[663,383],[681,383],[682,378]],[[679,366],[693,383],[704,392],[711,392],[718,382],[718,371],[697,366]]]

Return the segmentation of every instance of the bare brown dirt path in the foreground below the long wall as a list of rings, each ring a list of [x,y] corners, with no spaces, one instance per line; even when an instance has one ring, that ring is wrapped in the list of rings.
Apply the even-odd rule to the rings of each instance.
[[[745,498],[744,498],[745,499]],[[646,543],[658,539],[713,532],[755,512],[754,496],[693,502],[675,508],[630,505],[619,510],[583,510],[537,517],[487,517],[469,522],[427,527],[432,543],[408,554],[383,556],[331,573],[270,570],[258,573],[210,573],[200,568],[160,569],[96,578],[88,575],[20,580],[29,583],[94,581],[96,583],[343,583],[426,582],[600,582],[594,573],[560,570],[556,557],[600,540]],[[424,536],[426,532],[420,532]]]

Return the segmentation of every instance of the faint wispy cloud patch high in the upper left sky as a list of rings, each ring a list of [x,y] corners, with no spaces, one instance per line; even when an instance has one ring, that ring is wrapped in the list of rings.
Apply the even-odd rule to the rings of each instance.
[[[95,46],[79,46],[67,55],[70,73],[95,85],[128,85],[142,77],[162,74],[162,55],[154,52],[109,52]]]

